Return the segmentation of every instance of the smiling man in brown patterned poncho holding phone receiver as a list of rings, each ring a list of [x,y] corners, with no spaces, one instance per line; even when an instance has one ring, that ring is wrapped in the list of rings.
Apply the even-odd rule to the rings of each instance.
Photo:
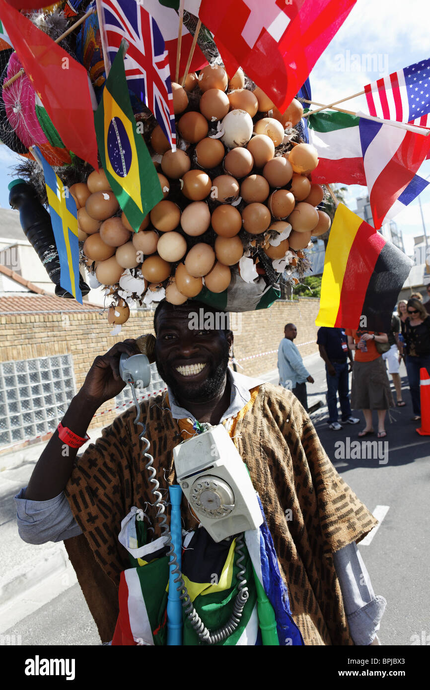
[[[119,357],[123,352],[137,352],[135,342],[128,340],[96,357],[59,431],[43,451],[28,488],[17,495],[21,537],[36,544],[65,540],[101,640],[110,642],[114,637],[116,644],[129,598],[121,582],[123,571],[129,572],[130,555],[137,559],[140,554],[144,558],[140,565],[157,563],[157,556],[148,555],[151,544],[159,548],[161,535],[151,482],[157,480],[160,492],[166,492],[176,481],[174,447],[199,433],[204,422],[224,424],[262,502],[277,555],[280,586],[286,587],[293,627],[300,631],[295,639],[316,645],[375,644],[386,602],[374,595],[355,543],[373,528],[375,519],[333,468],[311,420],[291,391],[231,371],[231,331],[190,328],[190,312],[196,306],[213,313],[196,302],[180,306],[162,302],[155,313],[155,358],[168,391],[140,404],[149,452],[154,457],[154,479],[149,480],[148,455],[139,439],[134,408],[117,417],[75,462],[77,447],[84,442],[95,411],[124,388]],[[128,548],[121,538],[128,529],[128,516],[136,511],[148,526],[143,551],[134,542]],[[217,578],[208,581],[213,573],[211,559],[219,549],[230,553],[232,538],[215,544],[204,528],[198,529],[199,522],[184,495],[181,511],[184,544],[190,544],[190,537],[196,535],[199,543],[204,540],[203,550],[188,549],[191,570],[197,564],[206,568],[208,576],[203,582],[208,582],[208,593],[219,584],[215,598],[221,596],[227,586]],[[250,596],[255,597],[251,582],[248,584]],[[164,585],[162,589],[165,591]],[[153,596],[152,589],[146,593]],[[222,624],[232,614],[233,599],[233,595],[226,598]],[[133,615],[141,611],[137,604],[132,609]],[[160,643],[164,611],[148,644]],[[257,629],[253,633],[247,630],[234,644],[261,644]],[[128,644],[141,642],[132,636]]]

